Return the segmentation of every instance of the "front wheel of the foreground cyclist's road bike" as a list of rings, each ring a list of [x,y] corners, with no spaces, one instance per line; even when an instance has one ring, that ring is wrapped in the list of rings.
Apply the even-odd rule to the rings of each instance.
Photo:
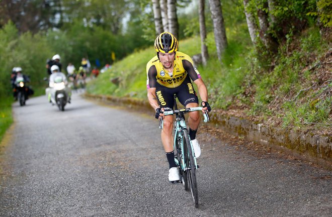
[[[197,189],[197,181],[196,181],[196,167],[195,167],[195,160],[194,155],[191,149],[190,140],[188,131],[183,131],[183,141],[184,141],[184,155],[186,158],[187,167],[189,168],[187,170],[188,174],[188,181],[190,185],[190,191],[191,195],[193,197],[193,202],[195,204],[195,207],[198,207],[198,189]]]

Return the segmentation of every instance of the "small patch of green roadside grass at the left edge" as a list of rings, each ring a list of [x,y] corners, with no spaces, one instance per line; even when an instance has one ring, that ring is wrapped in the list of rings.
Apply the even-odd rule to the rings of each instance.
[[[0,142],[2,141],[7,129],[13,123],[12,103],[12,97],[4,97],[0,100]]]

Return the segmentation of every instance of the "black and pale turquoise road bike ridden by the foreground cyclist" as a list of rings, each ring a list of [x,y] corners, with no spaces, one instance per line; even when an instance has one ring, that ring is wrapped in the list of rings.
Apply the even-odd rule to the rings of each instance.
[[[189,132],[185,121],[185,114],[195,111],[202,111],[203,107],[191,107],[178,109],[177,96],[174,95],[174,110],[165,111],[163,114],[173,115],[176,114],[176,121],[174,122],[174,152],[175,162],[179,166],[180,181],[185,190],[188,190],[188,183],[190,186],[191,195],[195,207],[198,207],[198,190],[196,181],[196,169],[199,168],[197,164],[195,152],[192,142],[189,137]],[[204,122],[209,122],[209,115],[207,111],[204,111]],[[159,128],[162,129],[163,120],[160,119]]]

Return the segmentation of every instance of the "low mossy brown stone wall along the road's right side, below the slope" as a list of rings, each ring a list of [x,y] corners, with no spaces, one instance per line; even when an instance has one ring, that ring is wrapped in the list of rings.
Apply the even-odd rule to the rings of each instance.
[[[154,114],[147,100],[85,93],[86,98],[106,104],[136,108]],[[211,122],[231,135],[241,136],[248,141],[282,151],[300,160],[312,162],[322,168],[332,170],[332,138],[310,135],[300,131],[286,131],[265,126],[262,123],[211,113]]]

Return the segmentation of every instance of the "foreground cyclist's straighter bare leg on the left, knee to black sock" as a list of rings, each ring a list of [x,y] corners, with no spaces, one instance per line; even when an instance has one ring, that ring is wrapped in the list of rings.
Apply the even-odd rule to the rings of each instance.
[[[164,116],[163,126],[161,130],[161,142],[165,152],[173,151],[172,130],[173,130],[173,116]]]

